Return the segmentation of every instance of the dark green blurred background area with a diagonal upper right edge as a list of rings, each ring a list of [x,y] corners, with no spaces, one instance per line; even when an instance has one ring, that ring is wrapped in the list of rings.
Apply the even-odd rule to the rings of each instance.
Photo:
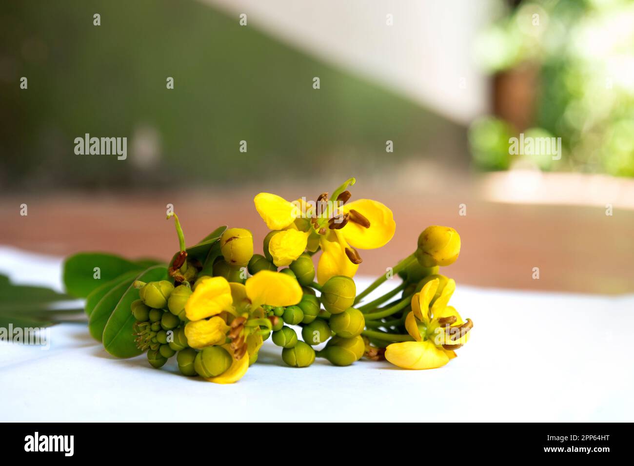
[[[198,1],[6,3],[0,86],[5,188],[340,178],[466,147],[463,128]],[[75,155],[85,133],[126,136],[128,159]]]

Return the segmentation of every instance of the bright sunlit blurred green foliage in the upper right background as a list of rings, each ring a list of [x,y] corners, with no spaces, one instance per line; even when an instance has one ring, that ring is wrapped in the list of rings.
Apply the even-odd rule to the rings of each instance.
[[[524,1],[475,46],[491,73],[538,67],[531,130],[562,138],[562,160],[541,169],[634,176],[634,3],[624,0]],[[483,169],[506,169],[517,129],[495,117],[469,131]],[[503,144],[502,141],[507,141]]]

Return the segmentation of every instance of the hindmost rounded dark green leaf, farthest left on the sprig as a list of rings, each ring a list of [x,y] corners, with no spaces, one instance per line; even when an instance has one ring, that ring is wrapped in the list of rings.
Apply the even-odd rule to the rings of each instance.
[[[99,280],[93,276],[95,267],[100,269]],[[102,283],[136,269],[139,269],[139,264],[120,256],[103,252],[80,252],[64,262],[63,281],[68,294],[85,298]]]

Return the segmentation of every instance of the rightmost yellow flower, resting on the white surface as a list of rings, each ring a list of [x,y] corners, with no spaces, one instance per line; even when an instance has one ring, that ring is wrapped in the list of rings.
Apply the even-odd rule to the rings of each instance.
[[[425,283],[411,297],[411,312],[405,328],[415,341],[392,343],[385,349],[385,359],[405,369],[433,369],[444,366],[456,357],[455,349],[469,339],[473,327],[470,319],[463,321],[458,311],[447,306],[456,283],[449,280],[441,295],[434,301],[439,280]]]

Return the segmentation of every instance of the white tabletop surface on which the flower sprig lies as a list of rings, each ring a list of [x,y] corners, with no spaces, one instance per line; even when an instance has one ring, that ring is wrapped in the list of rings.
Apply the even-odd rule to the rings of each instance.
[[[59,285],[60,262],[0,247],[0,272],[22,282],[36,266],[33,282]],[[634,296],[458,284],[451,301],[475,327],[443,368],[365,360],[339,368],[321,359],[289,368],[268,341],[233,385],[182,377],[175,361],[155,370],[145,356],[113,359],[84,324],[58,325],[48,351],[0,343],[0,420],[634,420]]]

